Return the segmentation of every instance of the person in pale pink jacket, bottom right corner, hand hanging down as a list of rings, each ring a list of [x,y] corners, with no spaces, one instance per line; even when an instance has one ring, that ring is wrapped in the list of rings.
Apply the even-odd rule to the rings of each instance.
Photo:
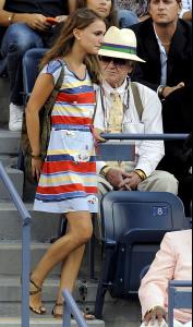
[[[192,280],[192,230],[167,233],[150,269],[142,280],[140,301],[145,326],[158,326],[156,319],[160,326],[162,319],[166,319],[170,280]],[[178,322],[190,323],[192,326],[190,311],[174,311],[174,319],[176,327],[179,326]]]

